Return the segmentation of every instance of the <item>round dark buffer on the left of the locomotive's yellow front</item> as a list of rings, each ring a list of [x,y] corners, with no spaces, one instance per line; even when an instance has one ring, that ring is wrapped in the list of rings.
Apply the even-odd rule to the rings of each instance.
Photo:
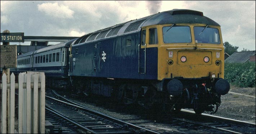
[[[168,82],[167,91],[170,95],[180,96],[182,94],[183,84],[181,81],[174,79]]]

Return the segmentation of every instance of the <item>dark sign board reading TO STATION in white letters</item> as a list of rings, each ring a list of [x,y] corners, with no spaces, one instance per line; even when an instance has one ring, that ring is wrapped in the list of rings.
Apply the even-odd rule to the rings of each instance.
[[[24,42],[24,33],[1,33],[1,42]]]

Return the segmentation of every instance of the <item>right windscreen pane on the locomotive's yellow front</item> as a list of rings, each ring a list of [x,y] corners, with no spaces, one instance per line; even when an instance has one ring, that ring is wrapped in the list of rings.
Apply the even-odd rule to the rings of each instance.
[[[217,28],[194,27],[197,43],[220,44],[220,34]]]

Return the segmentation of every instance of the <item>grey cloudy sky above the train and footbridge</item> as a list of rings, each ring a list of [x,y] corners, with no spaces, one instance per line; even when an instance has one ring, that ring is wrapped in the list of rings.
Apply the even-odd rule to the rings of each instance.
[[[172,9],[201,11],[221,25],[223,42],[239,47],[238,52],[243,48],[255,50],[255,1],[1,0],[0,32],[8,29],[11,33],[24,33],[25,36],[80,37]]]

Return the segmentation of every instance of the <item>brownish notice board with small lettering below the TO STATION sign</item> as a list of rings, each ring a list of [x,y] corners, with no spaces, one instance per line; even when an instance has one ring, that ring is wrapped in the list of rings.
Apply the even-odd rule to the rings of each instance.
[[[16,68],[17,45],[1,45],[1,68]]]

